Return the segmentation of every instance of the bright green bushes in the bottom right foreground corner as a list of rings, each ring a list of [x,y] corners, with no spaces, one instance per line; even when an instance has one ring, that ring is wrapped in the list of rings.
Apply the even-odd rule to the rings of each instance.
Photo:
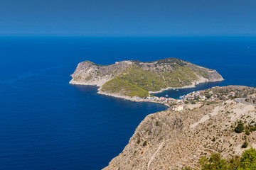
[[[256,150],[252,147],[242,153],[242,157],[221,159],[220,154],[213,153],[210,159],[201,157],[199,160],[202,170],[249,170],[256,169]]]

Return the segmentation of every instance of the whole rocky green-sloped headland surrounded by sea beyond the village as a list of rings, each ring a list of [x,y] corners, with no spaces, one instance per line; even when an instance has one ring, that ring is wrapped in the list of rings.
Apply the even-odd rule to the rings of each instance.
[[[176,58],[154,62],[122,61],[110,65],[85,61],[78,64],[71,77],[70,84],[100,86],[101,94],[142,98],[162,89],[223,81],[213,69]]]

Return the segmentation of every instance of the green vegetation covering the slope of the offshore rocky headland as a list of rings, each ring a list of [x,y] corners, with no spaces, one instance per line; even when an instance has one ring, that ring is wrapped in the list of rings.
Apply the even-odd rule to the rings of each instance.
[[[164,62],[161,60],[160,62]],[[149,91],[159,91],[169,87],[181,87],[191,84],[198,77],[181,60],[172,63],[171,68],[161,67],[156,70],[144,70],[137,65],[132,65],[122,74],[114,77],[102,86],[102,91],[122,94],[125,96],[146,97]]]

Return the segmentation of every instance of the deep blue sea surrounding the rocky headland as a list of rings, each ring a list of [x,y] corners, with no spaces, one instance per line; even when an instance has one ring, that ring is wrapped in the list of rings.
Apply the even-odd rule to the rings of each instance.
[[[216,69],[223,82],[164,91],[178,98],[211,86],[256,86],[256,38],[0,38],[0,169],[102,169],[156,103],[71,86],[79,62],[177,57]]]

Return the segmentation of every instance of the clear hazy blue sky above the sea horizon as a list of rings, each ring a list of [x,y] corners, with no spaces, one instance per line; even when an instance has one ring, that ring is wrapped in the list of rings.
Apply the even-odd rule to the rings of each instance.
[[[255,0],[0,0],[0,35],[256,35]]]

